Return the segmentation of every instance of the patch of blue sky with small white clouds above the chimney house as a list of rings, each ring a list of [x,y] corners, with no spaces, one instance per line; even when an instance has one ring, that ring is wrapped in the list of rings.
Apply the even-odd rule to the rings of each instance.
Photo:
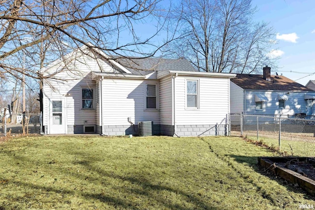
[[[276,32],[273,53],[281,58],[273,70],[302,85],[315,80],[315,1],[252,0],[252,6],[257,6],[254,20],[268,22]]]

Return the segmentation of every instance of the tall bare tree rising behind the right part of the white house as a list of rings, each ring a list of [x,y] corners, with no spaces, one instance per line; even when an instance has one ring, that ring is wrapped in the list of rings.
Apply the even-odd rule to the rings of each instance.
[[[252,0],[182,0],[173,13],[189,35],[168,45],[199,71],[251,73],[276,59],[267,57],[274,33],[266,23],[253,23]]]

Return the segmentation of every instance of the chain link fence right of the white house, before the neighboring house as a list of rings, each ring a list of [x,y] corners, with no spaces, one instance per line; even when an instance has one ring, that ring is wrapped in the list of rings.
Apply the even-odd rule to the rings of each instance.
[[[286,155],[315,156],[313,116],[261,116],[231,114],[231,135],[257,140]]]

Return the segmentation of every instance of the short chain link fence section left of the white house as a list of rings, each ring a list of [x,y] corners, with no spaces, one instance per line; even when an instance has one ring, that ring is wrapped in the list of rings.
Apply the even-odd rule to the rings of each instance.
[[[40,134],[42,132],[41,121],[40,114],[0,116],[0,136]]]

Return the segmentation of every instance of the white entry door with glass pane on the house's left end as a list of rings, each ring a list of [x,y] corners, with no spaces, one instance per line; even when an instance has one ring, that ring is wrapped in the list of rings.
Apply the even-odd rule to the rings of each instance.
[[[50,100],[50,134],[65,134],[65,107],[64,98]]]

